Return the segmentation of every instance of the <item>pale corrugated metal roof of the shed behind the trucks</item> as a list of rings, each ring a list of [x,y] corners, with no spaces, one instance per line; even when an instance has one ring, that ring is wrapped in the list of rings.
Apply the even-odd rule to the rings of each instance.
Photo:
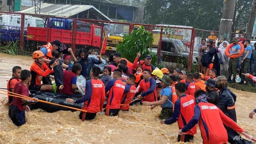
[[[100,12],[98,9],[96,9],[92,5],[69,5],[69,4],[43,3],[43,4],[41,4],[40,14],[51,15],[51,16],[71,17],[71,16],[74,16],[82,11],[86,11],[89,9],[94,9],[100,15],[102,15],[104,18],[106,18],[109,21],[112,21],[106,15],[104,15],[102,12]],[[35,7],[31,7],[26,10],[19,11],[19,13],[35,14]]]

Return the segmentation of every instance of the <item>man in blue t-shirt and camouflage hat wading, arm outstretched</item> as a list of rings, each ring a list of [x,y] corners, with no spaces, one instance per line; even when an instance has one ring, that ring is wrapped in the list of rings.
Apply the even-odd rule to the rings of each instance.
[[[169,119],[172,117],[172,89],[170,87],[170,80],[171,78],[164,75],[163,78],[159,78],[162,86],[162,90],[160,92],[160,95],[162,96],[162,99],[157,102],[146,102],[144,101],[144,105],[150,105],[150,109],[154,109],[157,105],[161,105],[161,114],[159,116],[159,119]]]

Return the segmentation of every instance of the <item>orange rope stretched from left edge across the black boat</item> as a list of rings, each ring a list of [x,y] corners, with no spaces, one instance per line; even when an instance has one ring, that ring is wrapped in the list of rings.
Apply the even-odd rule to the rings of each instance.
[[[8,92],[8,91],[1,90],[1,89],[0,89],[0,91],[4,91],[4,92],[7,92],[7,93],[15,94],[15,95],[9,94],[10,96],[19,97],[19,98],[27,98],[27,99],[30,99],[30,100],[34,100],[33,98],[25,96],[25,95],[16,94],[16,93]],[[4,93],[0,93],[0,94],[7,95],[7,94],[4,94]],[[52,103],[52,102],[46,102],[46,101],[43,101],[43,100],[38,100],[38,102],[43,102],[43,103],[52,104],[52,105],[56,105],[56,106],[60,106],[60,107],[68,108],[68,109],[73,109],[73,110],[78,110],[78,111],[82,111],[82,112],[87,112],[87,110],[77,109],[77,108],[73,108],[73,107],[69,107],[69,106],[65,106],[65,105],[60,105],[60,104]]]

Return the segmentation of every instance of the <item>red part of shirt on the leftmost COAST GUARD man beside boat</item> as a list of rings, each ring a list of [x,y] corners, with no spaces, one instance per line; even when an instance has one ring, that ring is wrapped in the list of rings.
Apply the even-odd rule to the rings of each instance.
[[[89,113],[97,113],[102,109],[105,102],[105,87],[104,83],[98,79],[92,80],[92,94],[89,101],[84,102],[83,110]]]

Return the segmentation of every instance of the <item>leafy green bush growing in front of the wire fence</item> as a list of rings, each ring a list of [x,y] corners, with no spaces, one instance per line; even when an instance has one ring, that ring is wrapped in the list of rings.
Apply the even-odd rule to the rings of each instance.
[[[152,56],[152,64],[155,65],[157,62],[157,56],[151,52],[148,48],[152,48],[153,35],[146,31],[143,26],[138,30],[133,30],[131,34],[125,34],[123,42],[116,46],[116,51],[119,52],[122,57],[125,57],[130,62],[133,62],[138,53],[138,41],[140,41],[140,53],[141,59],[144,59],[146,55]]]

